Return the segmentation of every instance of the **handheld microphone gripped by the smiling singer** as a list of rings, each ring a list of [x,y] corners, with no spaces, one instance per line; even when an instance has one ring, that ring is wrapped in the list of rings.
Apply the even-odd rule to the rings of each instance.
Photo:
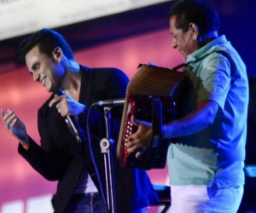
[[[57,89],[56,92],[55,92],[55,97],[60,96],[60,95],[65,95],[65,93],[62,89]],[[69,115],[67,115],[66,118],[67,118],[67,121],[70,124],[70,126],[73,130],[73,133],[75,134],[77,140],[79,142],[86,141],[84,132],[81,129],[77,118],[75,118],[74,116],[69,116]]]

